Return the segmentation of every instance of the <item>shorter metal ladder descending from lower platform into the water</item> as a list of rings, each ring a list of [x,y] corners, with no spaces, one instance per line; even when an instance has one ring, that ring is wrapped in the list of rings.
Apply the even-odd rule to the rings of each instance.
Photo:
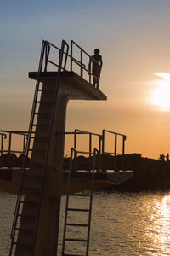
[[[94,158],[93,158],[93,166],[90,166],[90,170],[92,172],[90,172],[90,176],[91,177],[91,184],[90,184],[90,191],[88,193],[85,192],[81,192],[81,193],[71,193],[71,179],[73,179],[73,177],[71,177],[72,174],[72,160],[73,160],[73,151],[76,153],[83,153],[83,154],[89,154],[89,153],[85,153],[85,152],[81,152],[81,151],[77,151],[74,148],[71,148],[71,160],[70,160],[70,166],[69,166],[69,174],[68,174],[68,191],[67,191],[67,195],[66,195],[66,203],[65,203],[65,223],[64,223],[64,232],[63,232],[63,243],[62,243],[62,256],[70,256],[70,255],[74,255],[74,256],[83,256],[82,254],[70,254],[70,253],[65,253],[65,242],[82,242],[84,243],[84,247],[86,250],[86,256],[88,256],[88,249],[89,249],[89,239],[90,239],[90,225],[91,225],[91,216],[92,216],[92,202],[93,202],[93,195],[94,195],[94,169],[95,169],[95,155],[96,152],[99,152],[96,148],[94,148]],[[74,175],[76,175],[76,173],[74,173]],[[78,197],[80,198],[80,200],[82,199],[82,197],[86,197],[88,198],[88,207],[86,208],[79,208],[79,207],[70,207],[70,200],[71,198],[74,197]],[[68,220],[68,215],[70,212],[87,212],[88,214],[88,223],[77,223],[76,219],[74,221],[74,223],[69,222]],[[75,238],[74,235],[72,235],[72,237],[68,237],[67,236],[67,231],[68,228],[71,229],[71,227],[77,227],[77,229],[87,229],[87,238]],[[80,234],[80,232],[79,232]]]

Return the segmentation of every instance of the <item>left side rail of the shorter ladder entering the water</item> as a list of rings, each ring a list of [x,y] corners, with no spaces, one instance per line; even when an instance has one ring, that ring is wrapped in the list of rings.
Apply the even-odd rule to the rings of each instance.
[[[63,230],[63,244],[62,244],[62,253],[63,256],[65,254],[65,236],[66,236],[66,222],[67,222],[67,209],[69,206],[69,195],[71,193],[71,172],[72,172],[72,160],[73,160],[73,152],[77,151],[75,148],[71,148],[71,157],[69,162],[69,173],[68,173],[68,191],[66,195],[65,202],[65,222],[64,222],[64,230]]]

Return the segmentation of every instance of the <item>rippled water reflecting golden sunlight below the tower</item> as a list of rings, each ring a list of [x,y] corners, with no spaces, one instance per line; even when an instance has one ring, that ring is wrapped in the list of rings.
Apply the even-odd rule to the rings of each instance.
[[[80,199],[72,203],[87,206]],[[0,256],[8,255],[14,204],[14,195],[0,192]],[[64,208],[65,197],[61,202],[59,255]],[[83,216],[83,220],[85,218]],[[77,221],[82,222],[82,216],[77,215]],[[70,234],[69,231],[68,236],[80,235],[77,230],[73,232]],[[79,238],[85,236],[85,232],[81,232]],[[83,253],[81,244],[77,247],[71,243],[67,248],[70,253]],[[89,254],[170,255],[170,193],[95,193]]]

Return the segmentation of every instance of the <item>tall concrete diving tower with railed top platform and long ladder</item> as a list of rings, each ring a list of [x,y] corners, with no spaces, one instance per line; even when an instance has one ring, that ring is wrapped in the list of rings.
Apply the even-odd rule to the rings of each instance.
[[[74,56],[75,47],[79,50],[79,59]],[[74,41],[71,41],[71,53],[69,49],[70,45],[64,40],[61,48],[43,41],[38,71],[29,73],[29,78],[36,80],[26,143],[26,157],[31,159],[31,164],[26,167],[25,157],[21,172],[16,168],[18,177],[14,188],[19,185],[17,181],[20,178],[20,189],[9,256],[57,254],[60,197],[67,194],[69,176],[69,172],[62,170],[67,103],[69,100],[107,99],[101,90],[94,88],[91,81],[93,74],[84,63],[83,55],[88,56],[88,61],[94,59]],[[48,71],[49,68],[55,70]],[[93,173],[94,169],[95,166]],[[11,172],[14,173],[14,169]],[[70,192],[89,189],[91,177],[88,172],[74,172]],[[94,173],[93,189],[123,183],[131,177],[133,172],[130,171]]]

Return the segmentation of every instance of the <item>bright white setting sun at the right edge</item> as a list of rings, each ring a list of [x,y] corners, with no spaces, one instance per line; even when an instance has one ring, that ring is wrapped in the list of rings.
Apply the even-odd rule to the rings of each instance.
[[[162,80],[156,80],[153,84],[156,89],[151,96],[151,103],[160,107],[162,110],[170,110],[170,74],[156,73]]]

